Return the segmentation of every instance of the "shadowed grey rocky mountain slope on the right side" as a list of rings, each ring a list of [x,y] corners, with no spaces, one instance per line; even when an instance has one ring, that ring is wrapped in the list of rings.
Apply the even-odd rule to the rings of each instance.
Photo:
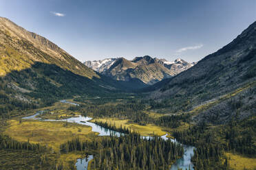
[[[256,22],[191,69],[147,90],[153,90],[150,98],[156,110],[189,112],[194,121],[224,123],[255,116]]]

